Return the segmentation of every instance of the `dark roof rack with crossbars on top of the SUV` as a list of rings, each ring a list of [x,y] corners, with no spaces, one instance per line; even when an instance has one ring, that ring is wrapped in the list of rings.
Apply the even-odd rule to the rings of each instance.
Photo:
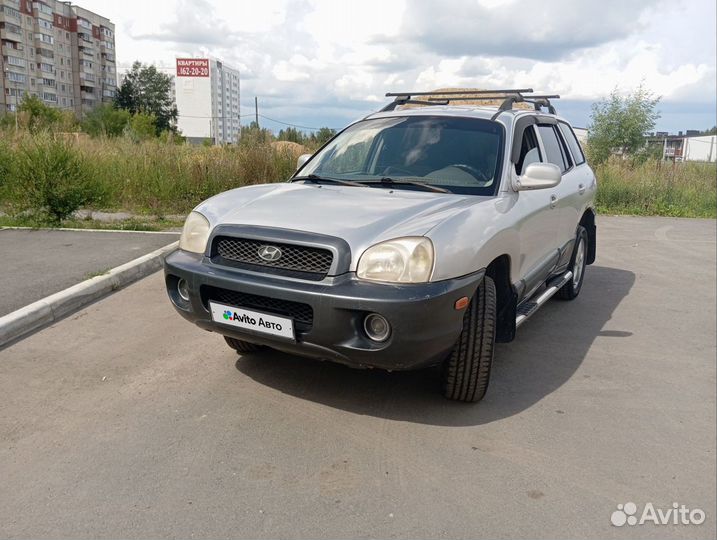
[[[527,94],[527,95],[526,95]],[[414,96],[430,96],[427,99],[413,99]],[[380,112],[393,111],[401,105],[448,105],[451,101],[468,101],[480,99],[502,99],[498,112],[493,115],[495,120],[502,112],[513,108],[514,103],[530,103],[536,111],[543,107],[550,114],[555,114],[551,99],[558,99],[558,94],[533,94],[532,88],[508,88],[501,90],[446,90],[435,92],[387,92],[386,97],[394,100],[383,107]]]

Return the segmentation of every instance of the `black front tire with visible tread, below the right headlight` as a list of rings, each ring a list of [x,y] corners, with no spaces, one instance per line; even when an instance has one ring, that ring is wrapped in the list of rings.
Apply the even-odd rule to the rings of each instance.
[[[463,329],[443,369],[443,395],[474,403],[485,396],[495,345],[495,284],[483,278],[463,315]]]

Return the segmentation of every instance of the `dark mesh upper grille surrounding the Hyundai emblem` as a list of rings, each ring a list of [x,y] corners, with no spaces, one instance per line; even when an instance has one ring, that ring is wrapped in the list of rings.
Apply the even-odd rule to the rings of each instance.
[[[272,246],[281,250],[276,261],[267,261],[259,256],[263,246]],[[334,260],[328,249],[263,242],[248,238],[218,236],[212,250],[214,262],[228,264],[247,270],[268,271],[291,277],[321,280],[326,277]]]

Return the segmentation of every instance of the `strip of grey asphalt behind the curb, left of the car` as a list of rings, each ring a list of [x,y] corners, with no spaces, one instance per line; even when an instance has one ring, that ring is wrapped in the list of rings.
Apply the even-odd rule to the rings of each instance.
[[[177,238],[164,233],[0,229],[0,317]]]

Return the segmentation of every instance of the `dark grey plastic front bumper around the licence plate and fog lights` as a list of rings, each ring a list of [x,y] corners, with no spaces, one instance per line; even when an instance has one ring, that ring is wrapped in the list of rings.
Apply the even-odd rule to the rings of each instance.
[[[440,362],[462,328],[464,309],[456,310],[454,304],[463,296],[472,298],[484,274],[410,285],[371,283],[353,273],[314,282],[219,266],[180,250],[165,259],[164,272],[175,309],[200,328],[300,356],[387,370]],[[189,285],[189,302],[177,293],[179,279]],[[313,323],[297,331],[293,341],[214,322],[207,299],[212,288],[308,304]],[[365,334],[363,320],[369,313],[383,315],[391,324],[385,342]]]

